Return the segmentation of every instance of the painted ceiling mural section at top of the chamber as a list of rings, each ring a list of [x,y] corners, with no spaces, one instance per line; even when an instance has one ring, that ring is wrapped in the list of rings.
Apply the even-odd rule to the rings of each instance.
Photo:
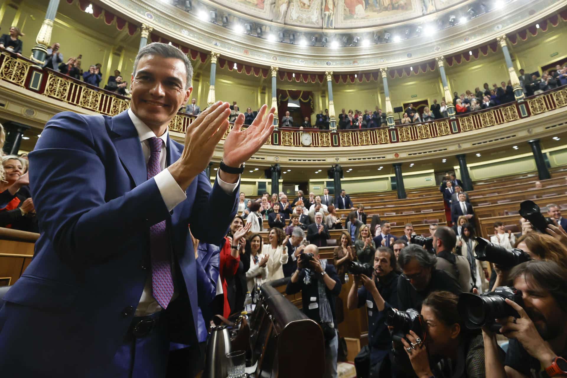
[[[211,0],[248,16],[289,26],[358,28],[413,19],[465,2],[456,0]]]

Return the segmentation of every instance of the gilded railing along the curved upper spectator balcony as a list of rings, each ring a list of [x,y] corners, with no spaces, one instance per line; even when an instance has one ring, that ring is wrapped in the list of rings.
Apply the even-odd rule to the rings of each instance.
[[[128,97],[91,86],[53,70],[41,69],[32,61],[17,57],[7,51],[0,54],[0,80],[107,116],[115,116],[130,106]],[[528,97],[522,103],[504,104],[484,111],[459,115],[454,119],[443,118],[421,124],[398,126],[395,129],[341,130],[337,133],[331,133],[319,129],[302,131],[294,128],[282,128],[274,132],[272,138],[266,144],[302,147],[304,146],[303,140],[310,147],[352,147],[420,141],[502,125],[566,105],[567,89],[560,87],[537,96]],[[169,130],[185,133],[187,126],[191,124],[193,119],[194,117],[188,114],[177,113],[171,120]],[[227,133],[223,135],[222,139],[226,138]],[[302,138],[305,133],[309,133],[310,138]]]

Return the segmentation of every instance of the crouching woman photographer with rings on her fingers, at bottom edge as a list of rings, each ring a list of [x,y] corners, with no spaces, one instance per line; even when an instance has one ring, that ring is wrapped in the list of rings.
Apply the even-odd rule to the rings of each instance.
[[[483,337],[478,332],[469,332],[463,325],[458,299],[448,291],[429,294],[421,307],[425,341],[413,330],[406,335],[409,343],[401,339],[418,378],[486,376]]]

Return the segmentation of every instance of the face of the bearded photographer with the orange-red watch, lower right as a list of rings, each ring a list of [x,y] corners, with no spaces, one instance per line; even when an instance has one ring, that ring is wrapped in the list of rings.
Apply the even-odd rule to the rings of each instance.
[[[562,333],[566,325],[565,313],[548,291],[526,275],[516,278],[514,287],[522,291],[523,308],[544,340]]]

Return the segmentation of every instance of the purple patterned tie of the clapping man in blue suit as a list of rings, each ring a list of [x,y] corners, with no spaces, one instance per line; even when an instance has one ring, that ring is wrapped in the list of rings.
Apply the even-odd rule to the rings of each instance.
[[[147,179],[162,171],[159,156],[162,153],[162,139],[147,139],[150,143],[150,160],[147,162]],[[174,295],[174,281],[171,277],[170,242],[167,237],[166,221],[150,227],[151,287],[158,304],[166,309]]]

